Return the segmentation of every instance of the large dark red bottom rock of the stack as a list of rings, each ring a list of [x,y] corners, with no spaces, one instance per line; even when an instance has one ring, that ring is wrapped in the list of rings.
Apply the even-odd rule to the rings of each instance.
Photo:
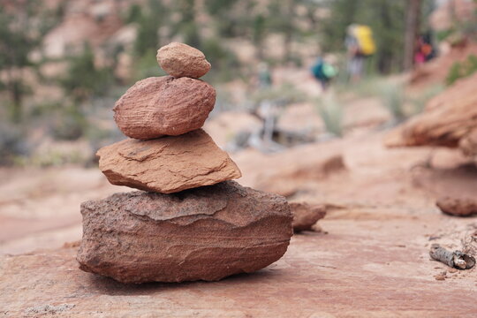
[[[227,181],[116,193],[81,205],[79,268],[122,283],[216,281],[277,261],[292,237],[284,197]]]

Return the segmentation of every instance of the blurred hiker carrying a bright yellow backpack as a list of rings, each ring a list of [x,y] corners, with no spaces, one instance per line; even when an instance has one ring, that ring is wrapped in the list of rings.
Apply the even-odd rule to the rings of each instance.
[[[346,49],[348,50],[348,73],[352,82],[361,79],[366,57],[375,54],[376,46],[370,27],[352,24],[347,28]]]

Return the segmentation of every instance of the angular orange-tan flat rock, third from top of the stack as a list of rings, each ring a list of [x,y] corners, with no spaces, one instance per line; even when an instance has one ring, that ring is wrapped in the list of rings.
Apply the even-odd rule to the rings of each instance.
[[[157,193],[240,178],[237,165],[203,130],[156,140],[127,139],[98,150],[110,183]]]

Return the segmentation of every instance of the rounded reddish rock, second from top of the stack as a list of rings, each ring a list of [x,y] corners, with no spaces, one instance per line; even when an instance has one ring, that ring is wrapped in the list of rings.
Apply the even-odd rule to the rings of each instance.
[[[138,81],[116,102],[114,120],[126,136],[150,140],[199,129],[216,103],[214,87],[171,76]]]

